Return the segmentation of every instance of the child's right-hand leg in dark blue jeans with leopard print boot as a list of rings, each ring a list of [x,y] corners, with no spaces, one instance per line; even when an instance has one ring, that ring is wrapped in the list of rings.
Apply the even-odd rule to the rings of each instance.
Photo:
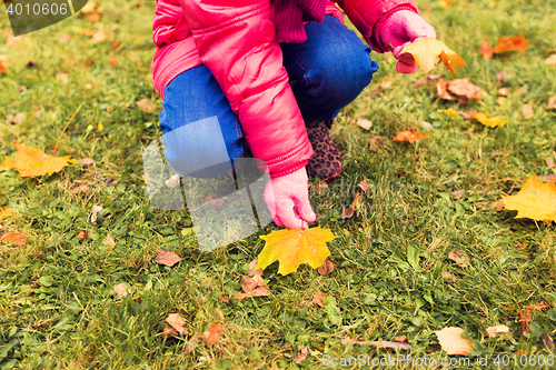
[[[332,16],[307,23],[305,30],[306,42],[280,44],[284,66],[295,81],[294,94],[315,150],[309,172],[334,178],[341,172],[341,158],[328,137],[331,120],[369,84],[378,64],[369,57],[370,47]]]

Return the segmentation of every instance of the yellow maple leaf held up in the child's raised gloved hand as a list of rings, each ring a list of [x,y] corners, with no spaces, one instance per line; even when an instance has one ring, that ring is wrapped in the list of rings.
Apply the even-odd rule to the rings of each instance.
[[[454,77],[456,77],[455,69],[457,67],[467,66],[461,57],[448,48],[444,42],[429,37],[411,42],[401,50],[400,54],[404,53],[413,56],[415,66],[419,66],[425,72],[425,76],[428,76],[428,72],[435,68],[438,58],[438,63],[443,62],[444,66],[451,71]]]

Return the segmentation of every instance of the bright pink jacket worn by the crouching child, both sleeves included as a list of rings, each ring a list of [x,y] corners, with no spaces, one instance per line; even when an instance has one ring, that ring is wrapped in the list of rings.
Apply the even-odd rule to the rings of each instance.
[[[391,13],[419,13],[414,0],[337,0],[375,51],[385,52],[378,34]],[[340,21],[328,1],[327,14]],[[166,86],[182,71],[207,66],[241,122],[254,157],[271,177],[307,164],[312,148],[282,67],[269,0],[157,0],[153,23],[157,51],[152,81],[163,98]]]

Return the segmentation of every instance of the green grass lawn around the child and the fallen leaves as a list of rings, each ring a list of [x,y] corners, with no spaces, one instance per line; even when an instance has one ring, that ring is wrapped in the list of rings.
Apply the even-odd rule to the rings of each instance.
[[[98,29],[82,16],[31,33],[16,48],[8,48],[6,34],[0,36],[0,54],[12,60],[8,74],[0,76],[0,160],[12,157],[12,141],[51,152],[82,104],[57,156],[96,161],[37,179],[0,169],[0,208],[18,210],[0,221],[0,234],[21,231],[29,237],[24,247],[0,242],[2,369],[318,369],[324,354],[396,356],[393,350],[344,346],[346,336],[407,336],[411,350],[406,354],[439,360],[445,354],[435,331],[445,327],[464,328],[474,356],[535,349],[536,354],[556,354],[540,341],[542,333],[556,333],[555,309],[534,311],[527,337],[518,314],[532,303],[556,303],[554,226],[516,220],[516,212],[488,207],[503,192],[515,193],[523,184],[515,180],[553,173],[544,159],[556,149],[556,113],[544,107],[556,96],[556,69],[544,60],[556,48],[555,1],[455,0],[447,9],[439,1],[420,1],[438,38],[468,64],[458,69],[458,78],[469,78],[489,97],[468,107],[443,101],[433,84],[411,87],[423,72],[397,76],[395,63],[374,53],[379,72],[332,129],[345,171],[328,192],[311,192],[314,208],[322,214],[320,226],[338,236],[329,243],[336,270],[321,277],[304,266],[282,277],[272,264],[265,271],[270,296],[241,303],[225,303],[218,296],[240,291],[262,240],[251,236],[200,252],[195,237],[181,233],[191,227],[188,213],[157,210],[146,196],[141,153],[160,132],[157,114],[142,112],[135,102],[147,98],[161,107],[148,77],[155,4],[118,0],[101,6],[100,22],[115,32],[102,43],[87,43],[90,37],[76,32]],[[8,28],[2,10],[0,29]],[[73,38],[59,43],[61,32]],[[498,36],[520,32],[529,40],[527,51],[490,61],[478,53],[484,36],[493,44]],[[119,51],[110,48],[116,39],[122,41]],[[109,64],[112,56],[118,67]],[[88,58],[93,66],[86,67]],[[29,60],[39,68],[26,68]],[[497,83],[502,70],[508,77]],[[60,72],[70,76],[57,80]],[[451,79],[444,67],[435,71],[440,72]],[[391,88],[373,96],[387,76]],[[27,90],[19,91],[20,86]],[[515,91],[523,86],[526,92],[496,104],[499,88]],[[524,103],[534,107],[530,120],[522,116]],[[437,112],[449,107],[504,116],[509,123],[488,129]],[[42,116],[34,118],[38,110]],[[27,113],[23,122],[3,121],[19,112]],[[374,122],[370,132],[355,124],[358,118]],[[428,139],[414,144],[386,141],[379,150],[368,150],[370,136],[391,139],[421,120],[434,127]],[[102,131],[97,130],[99,122]],[[363,211],[342,221],[341,206],[351,202],[353,189],[364,178],[373,187]],[[72,191],[82,184],[89,190]],[[465,191],[459,199],[454,194],[458,190]],[[93,204],[105,208],[97,228],[89,222]],[[267,227],[265,233],[271,229],[277,228]],[[88,230],[87,240],[77,238]],[[113,248],[103,242],[108,232],[117,242]],[[153,258],[162,249],[185,260],[172,269],[159,266]],[[470,266],[461,269],[451,262],[447,256],[453,250],[465,251]],[[443,271],[456,281],[444,281]],[[121,282],[142,299],[118,302],[111,287]],[[310,304],[318,290],[336,299],[340,324]],[[190,332],[202,333],[218,320],[216,308],[226,317],[217,346],[201,343],[186,354],[188,337],[160,336],[172,312],[185,318]],[[507,324],[510,332],[490,339],[485,329],[493,324]],[[309,357],[297,366],[294,356],[300,346],[309,347]],[[502,367],[490,362],[488,368]]]

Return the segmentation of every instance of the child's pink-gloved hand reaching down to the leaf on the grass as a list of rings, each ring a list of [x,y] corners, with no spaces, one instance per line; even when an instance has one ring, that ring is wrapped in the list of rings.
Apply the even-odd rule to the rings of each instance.
[[[309,203],[307,183],[305,167],[268,181],[265,200],[276,224],[288,229],[306,229],[307,222],[317,219]]]

